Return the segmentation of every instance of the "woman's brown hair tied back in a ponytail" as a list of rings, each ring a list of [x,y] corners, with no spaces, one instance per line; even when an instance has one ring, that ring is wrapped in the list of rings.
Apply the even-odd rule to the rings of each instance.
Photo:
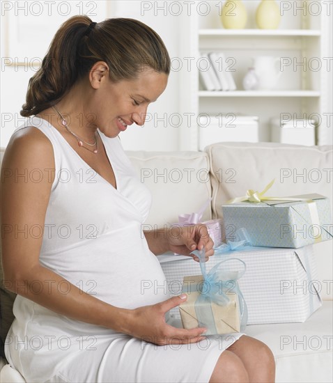
[[[29,80],[21,116],[36,115],[59,102],[97,61],[109,65],[115,82],[136,79],[146,67],[169,75],[169,54],[149,26],[127,18],[106,19],[95,26],[91,23],[87,16],[74,16],[61,25],[40,69]]]

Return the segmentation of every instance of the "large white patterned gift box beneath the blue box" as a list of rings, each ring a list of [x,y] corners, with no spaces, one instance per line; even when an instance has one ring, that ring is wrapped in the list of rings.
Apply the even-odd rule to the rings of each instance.
[[[192,258],[167,254],[157,258],[170,295],[180,295],[184,276],[200,274],[200,265]],[[238,283],[247,303],[248,325],[304,322],[322,304],[311,245],[301,249],[248,247],[216,253],[206,262],[207,270],[225,258],[239,258],[246,264]],[[235,265],[225,263],[224,269],[233,270]],[[178,307],[169,313],[180,320]]]

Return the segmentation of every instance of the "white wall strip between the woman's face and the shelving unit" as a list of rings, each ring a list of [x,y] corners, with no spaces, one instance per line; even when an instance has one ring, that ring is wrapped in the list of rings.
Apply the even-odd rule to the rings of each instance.
[[[155,16],[154,7],[165,1],[116,1],[115,17],[132,17],[148,24],[162,38],[169,56],[178,56],[179,17],[161,10]],[[152,5],[153,8],[150,8]],[[171,71],[168,86],[159,99],[148,107],[147,122],[143,127],[132,125],[121,134],[127,150],[178,150],[178,129],[171,127],[169,118],[179,111],[178,72]]]

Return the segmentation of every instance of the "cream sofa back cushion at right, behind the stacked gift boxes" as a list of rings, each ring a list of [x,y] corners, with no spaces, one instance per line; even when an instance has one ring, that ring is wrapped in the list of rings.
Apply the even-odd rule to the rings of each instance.
[[[222,203],[244,196],[247,189],[261,192],[272,179],[267,195],[333,195],[332,146],[281,143],[215,143],[205,148],[210,159],[213,218],[222,218]],[[332,241],[316,244],[320,294],[332,299]]]

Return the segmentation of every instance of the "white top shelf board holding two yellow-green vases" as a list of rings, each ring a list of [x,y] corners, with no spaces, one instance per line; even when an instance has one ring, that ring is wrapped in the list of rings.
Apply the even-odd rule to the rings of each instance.
[[[321,35],[317,29],[200,29],[199,36],[309,36]]]

